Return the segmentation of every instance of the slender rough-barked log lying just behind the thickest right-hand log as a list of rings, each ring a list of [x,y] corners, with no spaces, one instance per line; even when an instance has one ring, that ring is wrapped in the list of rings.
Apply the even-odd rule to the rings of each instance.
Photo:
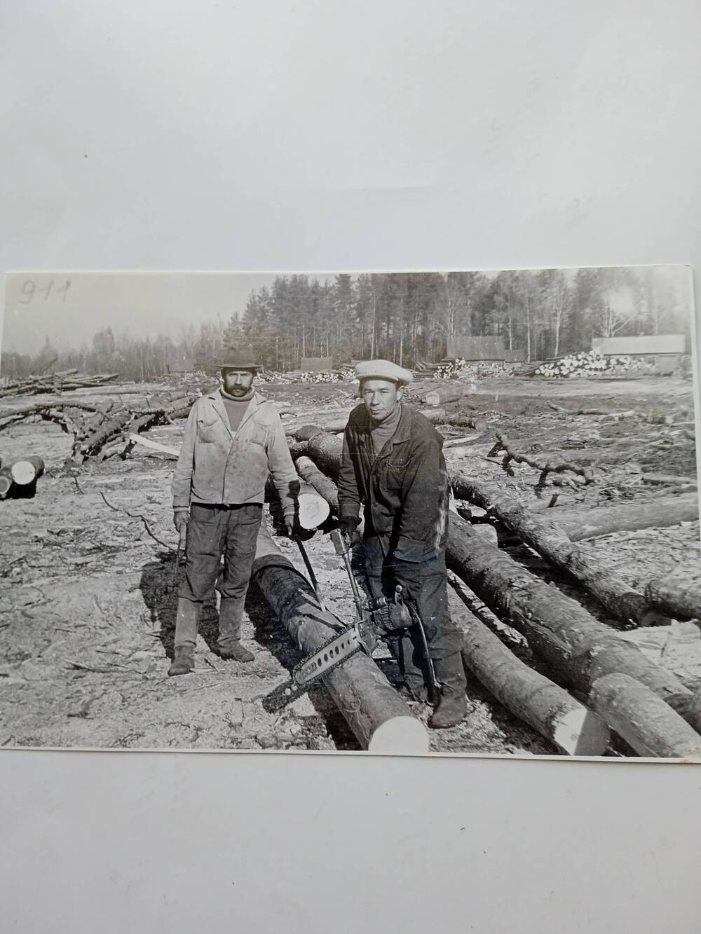
[[[550,518],[529,513],[520,502],[494,484],[480,483],[461,474],[452,474],[453,493],[492,512],[522,542],[542,558],[561,568],[586,587],[614,616],[637,626],[659,622],[642,593],[611,571],[604,559],[585,555]]]

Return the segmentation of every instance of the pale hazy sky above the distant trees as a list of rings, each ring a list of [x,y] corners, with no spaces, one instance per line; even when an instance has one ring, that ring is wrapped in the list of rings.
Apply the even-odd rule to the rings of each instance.
[[[677,279],[681,290],[690,289],[688,267],[655,268],[658,275]],[[243,312],[251,290],[272,285],[277,275],[291,274],[10,273],[0,346],[34,355],[48,337],[57,350],[78,348],[107,327],[115,336],[169,333],[177,340],[190,324],[198,328],[220,318],[224,325],[234,312]],[[323,281],[336,273],[308,275]]]

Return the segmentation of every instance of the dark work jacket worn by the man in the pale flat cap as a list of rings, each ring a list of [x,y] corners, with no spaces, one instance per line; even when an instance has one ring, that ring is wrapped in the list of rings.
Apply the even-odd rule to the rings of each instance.
[[[375,458],[365,405],[350,413],[338,475],[339,515],[378,533],[386,554],[403,561],[436,559],[448,536],[448,478],[443,439],[427,418],[402,406],[396,432]]]

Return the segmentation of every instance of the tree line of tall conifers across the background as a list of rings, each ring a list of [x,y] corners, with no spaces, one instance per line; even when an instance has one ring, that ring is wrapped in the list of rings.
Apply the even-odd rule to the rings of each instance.
[[[213,372],[222,347],[245,342],[270,370],[298,370],[309,357],[383,357],[404,366],[445,357],[460,338],[500,338],[526,361],[588,350],[592,338],[684,333],[686,299],[655,267],[505,271],[497,274],[378,273],[277,276],[253,290],[228,320],[191,325],[174,338],[115,337],[111,327],[90,344],[38,355],[3,352],[2,375],[21,377],[77,367],[153,380],[183,367]]]

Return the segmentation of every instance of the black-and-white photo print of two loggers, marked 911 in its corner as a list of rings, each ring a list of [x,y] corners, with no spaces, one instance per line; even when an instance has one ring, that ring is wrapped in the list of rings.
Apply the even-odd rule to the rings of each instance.
[[[22,272],[0,746],[701,756],[688,266]]]

